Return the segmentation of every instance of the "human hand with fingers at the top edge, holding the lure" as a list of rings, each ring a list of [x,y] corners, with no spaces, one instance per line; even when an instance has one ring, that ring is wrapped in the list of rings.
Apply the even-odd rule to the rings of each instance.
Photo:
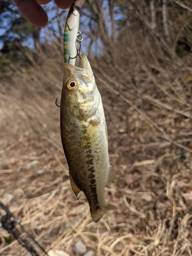
[[[51,0],[13,0],[20,13],[34,26],[42,28],[48,23],[47,13],[40,5],[46,5]],[[61,9],[69,8],[73,0],[55,0],[56,5]]]

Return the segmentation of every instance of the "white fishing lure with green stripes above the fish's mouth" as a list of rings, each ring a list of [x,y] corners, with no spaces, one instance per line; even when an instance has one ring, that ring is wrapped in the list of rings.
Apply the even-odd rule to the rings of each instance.
[[[64,60],[65,63],[70,63],[75,66],[77,57],[77,34],[79,31],[79,11],[84,3],[84,0],[74,1],[66,20],[66,26],[64,31]]]

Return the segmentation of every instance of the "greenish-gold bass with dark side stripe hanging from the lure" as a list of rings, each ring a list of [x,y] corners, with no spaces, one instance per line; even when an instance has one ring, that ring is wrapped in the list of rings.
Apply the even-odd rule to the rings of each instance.
[[[101,95],[84,54],[80,55],[79,67],[65,63],[60,129],[72,189],[76,196],[83,191],[91,217],[98,222],[106,212],[116,209],[104,198],[106,184],[116,175],[110,165]]]

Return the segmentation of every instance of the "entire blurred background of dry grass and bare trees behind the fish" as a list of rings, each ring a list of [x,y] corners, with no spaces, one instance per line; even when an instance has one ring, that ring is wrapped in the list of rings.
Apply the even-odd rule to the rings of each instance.
[[[60,142],[67,12],[45,8],[39,29],[0,1],[0,198],[46,249],[74,255],[81,237],[96,255],[192,255],[191,1],[87,0],[81,10],[81,53],[117,173],[105,195],[117,210],[99,224],[71,191]],[[25,255],[6,236],[0,230],[0,254]]]

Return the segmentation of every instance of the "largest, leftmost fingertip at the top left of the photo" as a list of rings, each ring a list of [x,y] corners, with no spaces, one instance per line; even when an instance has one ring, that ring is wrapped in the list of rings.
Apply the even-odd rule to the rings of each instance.
[[[20,13],[34,26],[42,28],[48,23],[47,13],[36,0],[13,0]]]

